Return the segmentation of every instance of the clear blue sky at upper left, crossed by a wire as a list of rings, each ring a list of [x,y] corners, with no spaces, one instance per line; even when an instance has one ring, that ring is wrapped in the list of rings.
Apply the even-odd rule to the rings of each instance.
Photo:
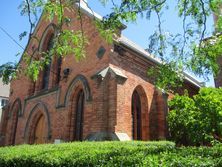
[[[0,26],[25,47],[27,40],[19,41],[19,34],[28,28],[28,22],[27,18],[20,16],[18,6],[18,0],[2,0],[0,5]],[[19,57],[16,57],[15,55],[18,52],[22,52],[21,48],[1,30],[0,50],[0,64],[19,60]]]

